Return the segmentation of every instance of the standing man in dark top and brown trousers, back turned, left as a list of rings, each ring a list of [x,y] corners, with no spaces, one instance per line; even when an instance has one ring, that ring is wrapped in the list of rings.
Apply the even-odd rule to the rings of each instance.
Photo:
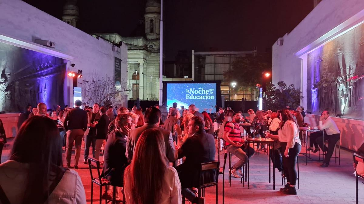
[[[78,160],[81,154],[81,143],[83,135],[87,128],[87,113],[85,110],[80,109],[82,102],[80,100],[75,101],[73,109],[68,110],[66,118],[64,118],[63,124],[67,131],[67,146],[66,146],[66,160],[67,167],[71,168],[71,156],[72,146],[75,142],[76,153],[75,153],[75,169],[78,169]],[[38,111],[39,113],[39,111]]]

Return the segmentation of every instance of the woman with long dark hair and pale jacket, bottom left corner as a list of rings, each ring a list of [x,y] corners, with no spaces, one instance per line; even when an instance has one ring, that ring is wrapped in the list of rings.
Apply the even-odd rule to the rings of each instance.
[[[23,123],[0,171],[0,203],[86,203],[80,176],[62,166],[59,131],[48,117]]]

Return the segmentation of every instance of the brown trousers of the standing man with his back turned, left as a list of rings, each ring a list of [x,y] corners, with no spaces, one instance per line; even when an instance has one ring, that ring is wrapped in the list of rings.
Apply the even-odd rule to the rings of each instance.
[[[81,154],[81,143],[84,131],[82,129],[74,129],[67,131],[67,147],[66,147],[66,160],[67,166],[71,164],[72,147],[73,142],[75,142],[76,153],[75,153],[75,166],[78,165],[78,160]]]

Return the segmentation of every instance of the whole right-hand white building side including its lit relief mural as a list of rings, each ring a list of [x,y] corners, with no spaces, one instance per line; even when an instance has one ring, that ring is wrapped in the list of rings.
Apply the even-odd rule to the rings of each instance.
[[[340,145],[356,151],[364,141],[358,130],[364,125],[364,1],[317,3],[273,45],[272,81],[302,92],[311,126],[328,110],[341,131]]]

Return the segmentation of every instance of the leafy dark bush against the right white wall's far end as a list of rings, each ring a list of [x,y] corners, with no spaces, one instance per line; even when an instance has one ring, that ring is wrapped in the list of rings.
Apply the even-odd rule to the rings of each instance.
[[[276,111],[286,106],[293,109],[300,106],[300,101],[303,98],[302,92],[296,90],[293,84],[287,87],[284,81],[279,81],[277,86],[272,83],[267,86],[263,97],[264,109]]]

